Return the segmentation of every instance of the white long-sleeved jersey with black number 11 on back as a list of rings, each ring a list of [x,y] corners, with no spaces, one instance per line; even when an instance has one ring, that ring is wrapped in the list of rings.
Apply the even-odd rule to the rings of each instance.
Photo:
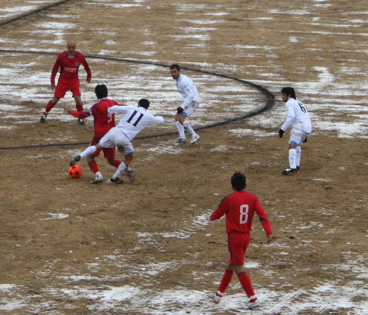
[[[161,116],[153,116],[147,113],[142,106],[112,106],[107,109],[109,114],[124,114],[117,127],[132,141],[134,137],[148,125],[158,125],[163,123]]]

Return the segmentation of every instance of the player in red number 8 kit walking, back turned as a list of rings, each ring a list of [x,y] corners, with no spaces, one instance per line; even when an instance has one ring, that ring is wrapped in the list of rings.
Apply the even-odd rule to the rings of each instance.
[[[216,303],[220,302],[235,271],[249,298],[249,302],[244,305],[244,308],[251,309],[260,305],[251,280],[244,269],[244,254],[250,242],[254,212],[258,215],[259,221],[261,221],[263,229],[266,231],[267,244],[272,241],[272,229],[258,198],[244,191],[245,181],[243,174],[234,173],[231,177],[231,186],[234,193],[224,197],[219,207],[210,216],[210,220],[213,221],[226,215],[227,247],[229,249],[229,260],[226,264],[224,276],[219,289],[211,297]]]

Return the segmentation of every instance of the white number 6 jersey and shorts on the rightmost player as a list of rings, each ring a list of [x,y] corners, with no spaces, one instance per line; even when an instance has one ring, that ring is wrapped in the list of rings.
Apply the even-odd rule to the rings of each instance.
[[[287,117],[281,129],[285,131],[292,125],[289,144],[299,145],[312,132],[311,117],[303,103],[296,99],[289,98],[285,107]]]

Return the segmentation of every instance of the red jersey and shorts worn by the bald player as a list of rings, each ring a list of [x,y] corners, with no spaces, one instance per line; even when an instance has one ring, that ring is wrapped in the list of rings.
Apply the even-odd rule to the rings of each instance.
[[[73,97],[81,96],[81,85],[78,78],[78,69],[81,64],[83,64],[87,72],[87,78],[91,78],[91,70],[81,53],[74,51],[74,56],[70,58],[66,50],[57,57],[51,73],[51,83],[55,83],[56,74],[60,68],[60,77],[57,82],[54,97],[63,98],[67,91],[71,91]]]

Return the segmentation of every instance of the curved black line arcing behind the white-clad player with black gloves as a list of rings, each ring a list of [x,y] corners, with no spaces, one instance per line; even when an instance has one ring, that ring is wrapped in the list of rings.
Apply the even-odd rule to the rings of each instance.
[[[68,1],[70,1],[70,0],[68,0]],[[11,50],[11,49],[0,49],[0,52],[59,55],[58,53],[53,53],[53,52],[32,52],[32,51]],[[155,65],[155,66],[167,67],[167,68],[170,67],[167,64],[154,63],[154,62],[149,62],[149,61],[132,60],[132,59],[127,59],[127,58],[103,57],[103,56],[92,56],[92,55],[85,55],[85,57],[90,58],[90,59],[106,59],[106,60],[116,60],[116,61],[124,61],[124,62],[140,63],[140,64],[149,64],[149,65]],[[246,114],[246,115],[241,116],[241,117],[220,121],[219,123],[214,123],[214,124],[206,125],[204,127],[196,128],[196,129],[194,129],[195,131],[204,130],[204,129],[207,129],[207,128],[213,128],[213,127],[233,123],[234,121],[238,121],[238,120],[242,120],[242,119],[249,118],[249,117],[252,117],[252,116],[256,116],[258,114],[261,114],[261,113],[265,112],[266,110],[269,110],[275,104],[275,96],[268,89],[264,88],[261,85],[255,84],[255,83],[250,82],[250,81],[242,80],[242,79],[239,79],[239,78],[236,78],[236,77],[230,77],[229,75],[226,75],[226,74],[215,73],[215,72],[212,72],[212,71],[200,70],[200,69],[195,69],[195,68],[191,68],[191,67],[181,67],[181,68],[185,69],[185,70],[202,72],[202,73],[206,73],[206,74],[216,75],[217,77],[222,77],[222,78],[242,82],[244,84],[250,85],[250,86],[258,89],[258,91],[261,91],[264,95],[267,96],[267,102],[266,102],[265,106],[262,107],[261,109],[255,111],[255,112],[251,112],[251,113]],[[175,131],[175,132],[166,132],[164,134],[147,135],[147,136],[137,137],[135,139],[163,137],[163,136],[173,135],[173,134],[177,134],[177,132]],[[47,147],[47,146],[73,146],[73,145],[82,145],[82,144],[86,145],[86,144],[89,144],[89,142],[77,142],[77,143],[66,143],[66,144],[43,144],[43,145],[30,145],[30,146],[10,146],[10,147],[0,147],[0,149],[43,148],[43,147]]]

